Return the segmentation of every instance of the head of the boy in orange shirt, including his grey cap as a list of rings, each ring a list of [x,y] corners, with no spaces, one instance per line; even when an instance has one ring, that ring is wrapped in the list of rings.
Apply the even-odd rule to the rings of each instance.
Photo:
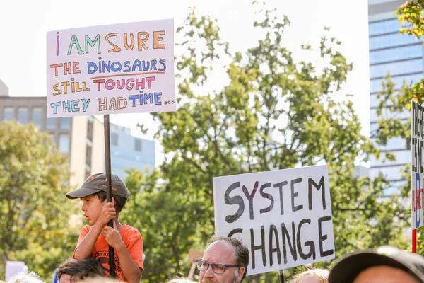
[[[103,204],[106,202],[106,182],[105,173],[90,175],[80,188],[66,194],[66,197],[69,199],[81,199],[83,201],[81,209],[90,225],[95,224],[100,214],[100,209],[102,209]],[[117,210],[117,215],[125,206],[128,197],[129,191],[126,188],[124,180],[112,173],[112,202]]]

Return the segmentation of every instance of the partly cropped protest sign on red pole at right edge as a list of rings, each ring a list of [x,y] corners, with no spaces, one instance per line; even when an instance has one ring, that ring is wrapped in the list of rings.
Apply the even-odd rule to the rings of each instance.
[[[423,148],[424,148],[424,108],[422,105],[411,102],[411,213],[412,229],[424,225],[424,197],[423,197]]]

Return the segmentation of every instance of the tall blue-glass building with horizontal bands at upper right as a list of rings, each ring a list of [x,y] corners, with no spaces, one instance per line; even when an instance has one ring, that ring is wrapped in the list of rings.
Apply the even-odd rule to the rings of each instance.
[[[424,78],[423,42],[411,35],[399,34],[401,24],[394,16],[405,0],[368,0],[368,30],[370,46],[370,132],[377,129],[377,93],[382,91],[383,77],[388,72],[399,90],[403,81],[416,83]],[[383,111],[384,117],[393,117],[388,111]],[[393,118],[408,120],[411,113],[404,111]],[[411,163],[411,151],[406,149],[408,141],[401,138],[390,139],[382,151],[391,151],[396,161],[382,162],[370,158],[370,177],[379,173],[392,181],[392,187],[405,182],[399,170],[406,163]],[[392,190],[391,190],[392,191]]]

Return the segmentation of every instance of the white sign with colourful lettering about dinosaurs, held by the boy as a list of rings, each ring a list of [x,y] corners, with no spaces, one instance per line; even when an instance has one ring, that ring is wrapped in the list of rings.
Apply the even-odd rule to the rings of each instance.
[[[47,117],[176,106],[173,20],[47,33]]]

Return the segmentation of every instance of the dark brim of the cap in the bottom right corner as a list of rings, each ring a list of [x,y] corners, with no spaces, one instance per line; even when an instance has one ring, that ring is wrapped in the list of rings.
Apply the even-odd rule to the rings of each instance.
[[[404,265],[399,260],[395,260],[387,255],[382,255],[373,252],[362,252],[353,255],[348,255],[338,262],[332,269],[329,275],[329,283],[351,283],[353,280],[369,267],[379,265],[388,265],[390,267],[399,268],[408,272],[416,279],[421,280],[420,275],[413,272],[410,267]]]

